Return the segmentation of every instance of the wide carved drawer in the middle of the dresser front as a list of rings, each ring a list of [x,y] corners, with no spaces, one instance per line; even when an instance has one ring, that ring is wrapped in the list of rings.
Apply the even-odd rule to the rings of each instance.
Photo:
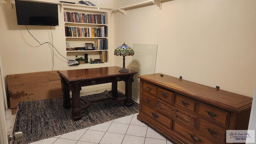
[[[184,125],[196,129],[197,116],[191,114],[191,112],[184,112],[184,110],[174,108],[160,99],[156,99],[156,110],[166,114],[169,117],[173,116],[173,119],[180,120],[184,123]]]

